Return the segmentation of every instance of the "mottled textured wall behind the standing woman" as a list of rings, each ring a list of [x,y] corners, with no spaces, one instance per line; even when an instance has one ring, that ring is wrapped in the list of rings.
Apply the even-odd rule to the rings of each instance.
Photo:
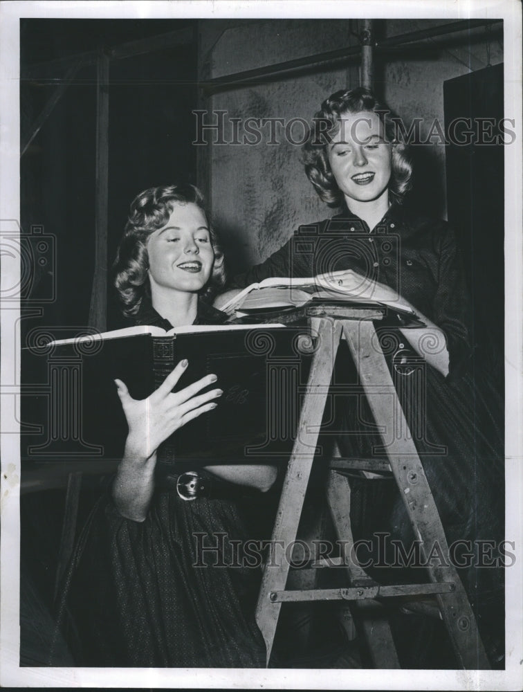
[[[380,21],[380,35],[398,35],[445,21]],[[254,20],[203,21],[200,26],[200,71],[208,77],[253,69],[312,53],[357,43],[349,21]],[[376,63],[376,91],[407,122],[423,118],[421,131],[439,118],[443,123],[443,81],[487,64],[484,33],[465,48],[463,35],[432,39],[423,48],[396,48]],[[499,32],[490,39],[490,62],[502,61]],[[275,251],[299,224],[323,219],[333,210],[324,205],[306,179],[300,163],[300,147],[288,142],[277,127],[277,144],[270,144],[269,125],[259,127],[255,145],[230,144],[234,138],[230,118],[239,118],[238,138],[244,136],[246,118],[310,120],[320,102],[337,89],[357,86],[357,62],[286,78],[274,83],[246,86],[206,98],[202,107],[227,111],[224,138],[228,144],[208,144],[204,149],[206,180],[212,218],[219,230],[232,271],[259,262]],[[211,116],[207,116],[210,120]],[[216,119],[216,118],[214,118]],[[299,140],[296,124],[291,136]],[[211,142],[216,134],[207,132]],[[254,136],[250,136],[251,139]],[[425,186],[432,194],[432,211],[444,216],[444,147],[423,147],[418,152]],[[201,151],[200,151],[201,154]]]

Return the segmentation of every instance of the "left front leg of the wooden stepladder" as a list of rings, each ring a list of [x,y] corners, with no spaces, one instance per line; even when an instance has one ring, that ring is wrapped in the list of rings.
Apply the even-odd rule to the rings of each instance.
[[[289,570],[285,557],[286,549],[296,540],[315,446],[340,343],[341,325],[334,320],[318,320],[318,334],[321,343],[311,363],[296,441],[279,499],[270,546],[271,554],[268,556],[264,569],[256,608],[256,621],[267,647],[267,663],[273,648],[281,608],[281,603],[271,601],[270,594],[273,591],[284,590],[286,585]]]

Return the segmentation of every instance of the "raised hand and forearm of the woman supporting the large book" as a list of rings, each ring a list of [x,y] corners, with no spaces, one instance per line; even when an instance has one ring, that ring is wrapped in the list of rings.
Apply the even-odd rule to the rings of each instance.
[[[221,390],[198,394],[216,381],[215,375],[207,375],[173,393],[186,367],[187,361],[178,363],[160,387],[141,401],[131,397],[122,381],[115,381],[129,433],[113,483],[113,500],[116,509],[127,519],[143,521],[147,516],[154,492],[158,446],[188,421],[214,408],[216,403],[212,399],[221,394]]]

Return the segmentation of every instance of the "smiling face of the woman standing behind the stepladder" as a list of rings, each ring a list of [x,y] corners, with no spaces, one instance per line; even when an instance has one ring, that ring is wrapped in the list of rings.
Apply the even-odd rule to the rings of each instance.
[[[376,113],[346,113],[329,144],[329,163],[345,195],[351,201],[388,201],[392,152],[383,140],[383,127]]]

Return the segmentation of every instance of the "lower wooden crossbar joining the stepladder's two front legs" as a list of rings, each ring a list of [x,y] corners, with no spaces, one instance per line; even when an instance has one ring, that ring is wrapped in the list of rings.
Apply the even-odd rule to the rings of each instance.
[[[452,582],[439,584],[394,584],[358,586],[349,589],[306,589],[299,591],[271,591],[271,603],[293,601],[360,601],[397,596],[421,596],[427,594],[448,594],[455,590]]]

